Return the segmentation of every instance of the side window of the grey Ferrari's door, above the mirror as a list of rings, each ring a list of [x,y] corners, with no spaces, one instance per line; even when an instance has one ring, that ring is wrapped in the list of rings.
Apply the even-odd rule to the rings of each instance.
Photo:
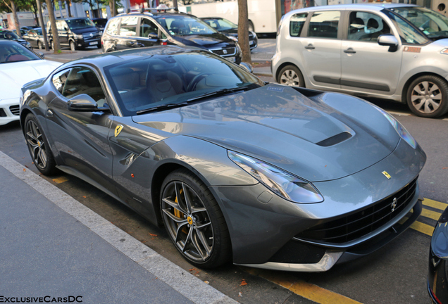
[[[94,101],[97,101],[99,107],[104,106],[105,95],[103,88],[97,75],[88,68],[73,68],[68,75],[66,86],[62,92],[62,95],[67,99],[71,99],[80,94],[87,94]]]

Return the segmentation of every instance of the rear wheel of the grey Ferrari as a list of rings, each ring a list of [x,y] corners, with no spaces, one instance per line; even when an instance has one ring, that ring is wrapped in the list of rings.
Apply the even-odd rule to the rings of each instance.
[[[37,170],[43,175],[54,175],[57,172],[56,161],[35,115],[28,114],[24,126],[28,151],[30,151],[30,156]]]

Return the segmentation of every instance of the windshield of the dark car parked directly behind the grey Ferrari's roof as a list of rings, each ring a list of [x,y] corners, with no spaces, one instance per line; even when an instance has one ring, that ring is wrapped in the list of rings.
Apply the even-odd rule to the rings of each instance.
[[[173,36],[216,33],[216,30],[213,30],[202,20],[188,16],[163,17],[158,18],[157,22]]]

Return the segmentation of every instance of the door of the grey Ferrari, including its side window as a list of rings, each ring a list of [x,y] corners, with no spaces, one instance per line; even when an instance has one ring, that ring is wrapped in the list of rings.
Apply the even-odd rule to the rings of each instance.
[[[104,85],[94,70],[84,66],[62,70],[52,77],[52,82],[58,92],[49,103],[46,121],[58,158],[73,174],[87,177],[116,195],[113,154],[108,144],[114,115],[108,108]],[[99,109],[70,110],[70,99],[80,94],[90,96]]]

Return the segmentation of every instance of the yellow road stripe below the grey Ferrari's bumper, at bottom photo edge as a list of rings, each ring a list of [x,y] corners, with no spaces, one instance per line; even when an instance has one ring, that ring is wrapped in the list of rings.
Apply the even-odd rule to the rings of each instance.
[[[268,281],[278,284],[299,296],[319,304],[361,304],[361,302],[352,300],[346,296],[342,296],[339,293],[323,289],[300,279],[295,279],[284,272],[277,274],[275,272],[255,268],[248,268],[246,271],[250,274],[262,277],[263,279],[267,279]]]

